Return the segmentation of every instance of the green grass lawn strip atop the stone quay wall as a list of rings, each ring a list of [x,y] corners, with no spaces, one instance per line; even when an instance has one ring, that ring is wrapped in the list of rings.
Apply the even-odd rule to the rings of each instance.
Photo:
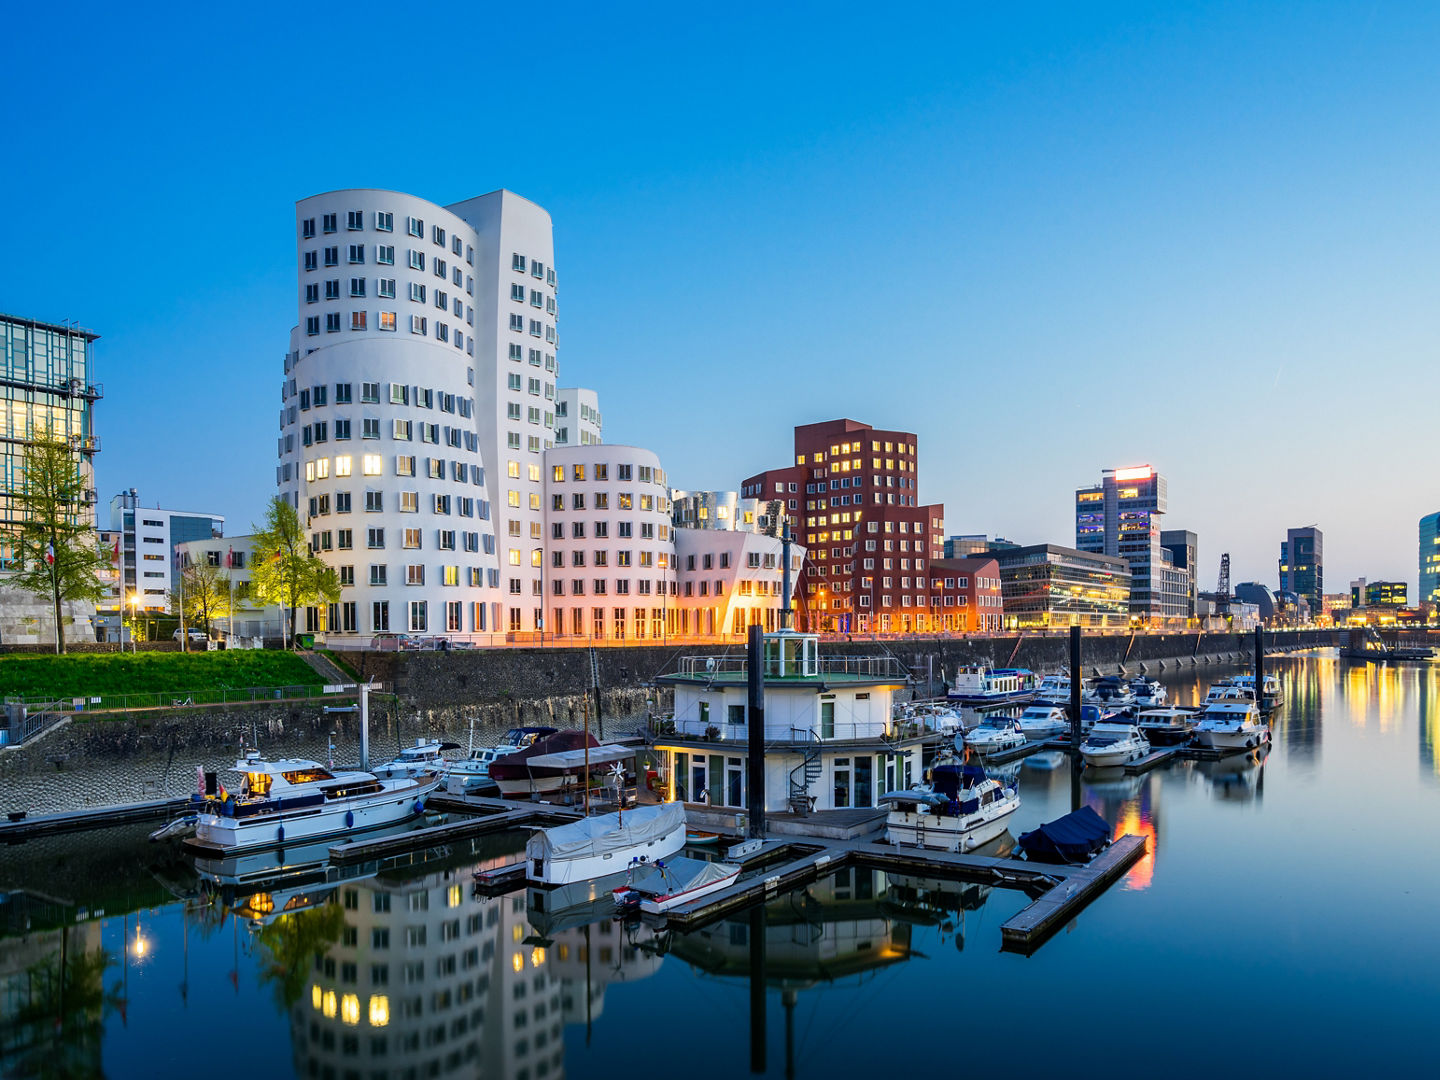
[[[71,698],[166,696],[176,691],[209,696],[225,690],[285,685],[318,687],[321,680],[300,657],[268,649],[0,655],[3,696]],[[196,697],[196,703],[200,700]],[[157,700],[154,704],[170,701]]]

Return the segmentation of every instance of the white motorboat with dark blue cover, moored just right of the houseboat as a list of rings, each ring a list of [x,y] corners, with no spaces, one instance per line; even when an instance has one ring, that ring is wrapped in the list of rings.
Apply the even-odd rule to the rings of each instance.
[[[979,765],[936,765],[930,782],[880,798],[891,804],[886,840],[897,847],[973,851],[1005,831],[1020,792],[986,776]]]

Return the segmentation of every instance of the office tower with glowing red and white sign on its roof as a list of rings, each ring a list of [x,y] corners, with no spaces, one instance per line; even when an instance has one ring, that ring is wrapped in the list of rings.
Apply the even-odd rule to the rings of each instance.
[[[1076,491],[1076,547],[1129,562],[1130,613],[1161,624],[1194,609],[1194,570],[1176,567],[1161,543],[1166,501],[1165,477],[1149,465],[1104,469]]]

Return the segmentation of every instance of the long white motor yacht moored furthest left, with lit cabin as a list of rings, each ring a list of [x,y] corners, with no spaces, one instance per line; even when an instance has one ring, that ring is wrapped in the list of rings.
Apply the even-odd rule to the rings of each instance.
[[[320,762],[268,762],[251,750],[235,763],[239,791],[206,799],[186,844],[202,852],[236,854],[395,825],[425,811],[439,772],[379,778],[331,770]]]

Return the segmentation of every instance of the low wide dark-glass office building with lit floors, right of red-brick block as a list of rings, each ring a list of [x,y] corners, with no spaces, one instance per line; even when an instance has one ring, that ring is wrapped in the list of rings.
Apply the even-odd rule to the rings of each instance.
[[[1130,624],[1130,563],[1060,544],[995,552],[1005,625],[1014,629]]]

